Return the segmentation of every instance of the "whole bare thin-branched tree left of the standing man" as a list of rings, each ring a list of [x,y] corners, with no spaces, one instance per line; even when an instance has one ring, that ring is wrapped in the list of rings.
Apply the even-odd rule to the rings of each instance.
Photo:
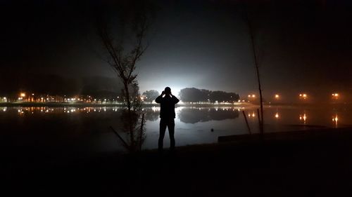
[[[122,130],[130,133],[127,149],[135,151],[142,147],[144,139],[144,116],[139,97],[137,74],[134,72],[148,43],[145,43],[149,29],[147,6],[140,1],[119,1],[118,5],[108,5],[97,20],[98,35],[105,55],[102,59],[113,68],[118,79],[123,83],[127,110],[122,113]],[[113,13],[113,15],[109,15]],[[115,14],[115,15],[114,15]],[[112,19],[112,20],[111,20]],[[141,128],[138,120],[142,114]]]

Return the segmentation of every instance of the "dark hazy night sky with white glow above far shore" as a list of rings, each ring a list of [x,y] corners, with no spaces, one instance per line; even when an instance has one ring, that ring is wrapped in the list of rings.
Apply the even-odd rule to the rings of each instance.
[[[35,74],[115,77],[97,55],[94,22],[103,3],[28,2],[0,3],[1,88]],[[141,92],[170,86],[174,92],[195,87],[256,93],[246,11],[264,95],[352,91],[348,1],[153,2],[150,46],[137,63]]]

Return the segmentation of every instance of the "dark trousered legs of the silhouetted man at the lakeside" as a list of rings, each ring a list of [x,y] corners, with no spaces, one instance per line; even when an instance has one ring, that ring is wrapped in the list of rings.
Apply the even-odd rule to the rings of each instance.
[[[163,150],[163,140],[165,136],[165,131],[166,127],[168,127],[169,130],[169,136],[170,136],[170,150],[175,149],[175,120],[172,119],[163,119],[161,118],[160,121],[160,135],[159,135],[159,142],[158,142],[158,149],[159,151]]]

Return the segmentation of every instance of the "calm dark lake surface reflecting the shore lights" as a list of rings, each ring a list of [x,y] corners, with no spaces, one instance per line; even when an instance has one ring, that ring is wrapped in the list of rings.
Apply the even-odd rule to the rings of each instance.
[[[351,106],[265,107],[265,132],[341,128],[352,125]],[[158,140],[158,107],[143,109],[146,140],[143,149],[155,149]],[[242,111],[253,133],[258,133],[256,108],[177,107],[177,146],[217,142],[219,136],[248,133]],[[109,126],[120,132],[119,107],[0,107],[1,144],[6,147],[39,147],[76,154],[123,150]],[[121,134],[122,137],[127,137]],[[168,134],[165,147],[168,147]]]

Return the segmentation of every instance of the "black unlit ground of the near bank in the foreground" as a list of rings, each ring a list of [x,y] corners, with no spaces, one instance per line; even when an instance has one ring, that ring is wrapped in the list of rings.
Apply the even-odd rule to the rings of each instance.
[[[352,196],[351,129],[230,140],[163,156],[143,151],[52,162],[6,154],[0,195]]]

